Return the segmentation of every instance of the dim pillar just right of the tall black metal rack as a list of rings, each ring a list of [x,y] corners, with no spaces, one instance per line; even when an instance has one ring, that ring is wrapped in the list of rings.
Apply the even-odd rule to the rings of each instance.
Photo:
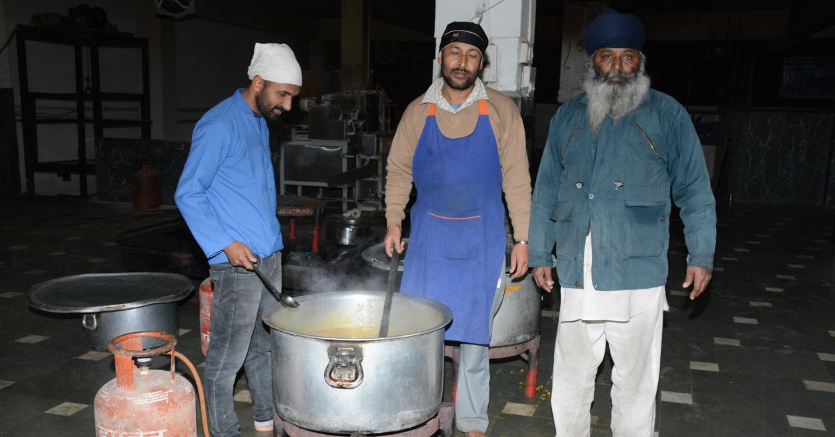
[[[177,129],[177,71],[175,22],[154,15],[154,3],[134,0],[136,35],[148,38],[151,138],[175,139]]]

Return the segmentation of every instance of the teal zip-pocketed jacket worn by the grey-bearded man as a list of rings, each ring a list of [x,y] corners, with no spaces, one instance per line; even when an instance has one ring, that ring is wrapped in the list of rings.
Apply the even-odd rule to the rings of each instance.
[[[688,266],[713,268],[716,201],[690,115],[651,90],[595,135],[585,94],[551,119],[530,211],[530,267],[553,266],[563,287],[583,287],[584,239],[591,231],[597,290],[664,285],[671,197],[685,224]]]

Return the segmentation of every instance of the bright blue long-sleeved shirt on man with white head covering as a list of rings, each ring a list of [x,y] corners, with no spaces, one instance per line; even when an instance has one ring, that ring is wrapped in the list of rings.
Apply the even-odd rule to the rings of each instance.
[[[195,126],[175,202],[210,264],[240,241],[268,257],[283,247],[266,121],[235,94]]]

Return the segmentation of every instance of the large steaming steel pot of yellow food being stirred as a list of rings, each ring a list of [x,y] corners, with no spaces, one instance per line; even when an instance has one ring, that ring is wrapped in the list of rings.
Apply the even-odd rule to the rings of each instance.
[[[449,308],[395,293],[389,337],[377,338],[384,292],[326,292],[273,305],[276,413],[301,428],[376,434],[432,419],[443,391]]]

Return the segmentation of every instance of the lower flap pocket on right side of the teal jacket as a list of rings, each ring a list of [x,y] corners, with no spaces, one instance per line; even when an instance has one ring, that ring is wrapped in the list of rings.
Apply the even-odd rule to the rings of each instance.
[[[666,201],[625,201],[625,258],[660,257],[670,239]]]

